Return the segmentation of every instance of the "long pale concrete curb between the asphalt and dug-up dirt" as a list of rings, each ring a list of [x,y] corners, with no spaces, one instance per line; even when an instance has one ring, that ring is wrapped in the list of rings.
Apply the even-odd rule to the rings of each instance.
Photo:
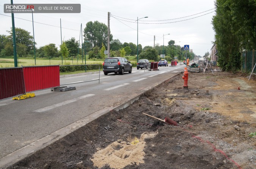
[[[183,72],[183,71],[181,71],[181,72]],[[103,108],[99,111],[96,111],[84,118],[81,118],[78,121],[75,121],[72,124],[69,124],[68,126],[66,126],[64,128],[59,129],[58,131],[53,132],[52,134],[47,135],[46,137],[43,137],[41,139],[36,140],[33,143],[28,144],[27,146],[22,147],[22,148],[18,149],[17,151],[12,152],[11,154],[6,155],[5,157],[0,159],[0,168],[3,169],[3,168],[13,165],[14,163],[24,159],[25,157],[28,157],[29,155],[35,153],[36,151],[41,150],[44,147],[52,144],[53,142],[60,140],[61,138],[70,134],[71,132],[74,132],[77,129],[85,126],[86,124],[90,123],[91,121],[95,120],[96,118],[100,117],[101,115],[104,115],[112,110],[118,111],[120,109],[127,108],[134,101],[138,100],[141,97],[141,95],[143,95],[146,92],[150,92],[155,87],[159,86],[160,84],[164,83],[165,81],[170,80],[172,77],[174,77],[176,75],[179,75],[179,73],[173,74],[173,75],[171,75],[171,77],[168,77],[164,80],[154,83],[153,85],[148,86],[147,88],[142,89],[140,91],[140,94],[131,98],[129,101],[126,101],[126,102],[124,102],[118,106],[115,106],[115,107],[111,107],[111,106],[105,107],[105,108]]]

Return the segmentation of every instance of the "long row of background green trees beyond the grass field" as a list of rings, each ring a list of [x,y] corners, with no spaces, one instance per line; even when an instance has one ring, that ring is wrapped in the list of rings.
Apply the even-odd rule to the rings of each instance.
[[[13,55],[13,32],[12,29],[7,31],[9,35],[0,35],[0,57],[9,57]],[[30,32],[22,28],[15,28],[16,32],[16,48],[18,57],[34,57],[33,36]],[[89,59],[102,59],[105,58],[104,51],[107,46],[107,26],[98,21],[86,23],[83,29],[83,45],[74,37],[63,41],[58,50],[58,46],[54,43],[36,48],[36,57],[39,58],[57,58],[63,56],[64,59],[71,59],[82,57],[86,53]],[[35,42],[36,44],[36,42]],[[163,50],[164,49],[164,50]],[[184,60],[184,48],[175,45],[174,40],[170,40],[167,46],[160,46],[156,44],[152,46],[138,45],[139,58],[149,60],[159,60],[159,55],[165,54],[166,58],[171,61],[175,57],[179,60]],[[111,57],[124,57],[126,55],[137,55],[137,45],[130,42],[121,43],[118,39],[113,39],[110,34],[110,56]],[[195,57],[194,53],[188,52],[188,57]]]

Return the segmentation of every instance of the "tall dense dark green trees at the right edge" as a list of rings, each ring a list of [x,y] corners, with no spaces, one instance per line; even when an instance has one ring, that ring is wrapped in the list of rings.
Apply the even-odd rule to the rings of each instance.
[[[218,63],[224,71],[241,68],[241,52],[256,48],[256,1],[216,0],[212,18]]]

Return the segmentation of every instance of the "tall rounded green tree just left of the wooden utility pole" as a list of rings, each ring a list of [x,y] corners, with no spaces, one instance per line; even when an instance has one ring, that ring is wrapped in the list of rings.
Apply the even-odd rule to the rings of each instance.
[[[93,46],[101,46],[103,43],[104,46],[107,46],[107,37],[108,37],[108,27],[104,23],[99,21],[88,22],[86,27],[83,30],[85,41],[90,41],[93,43]],[[110,34],[110,41],[112,40],[113,35]]]

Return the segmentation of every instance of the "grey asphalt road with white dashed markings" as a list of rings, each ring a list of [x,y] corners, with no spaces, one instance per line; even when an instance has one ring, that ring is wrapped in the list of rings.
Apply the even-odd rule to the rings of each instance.
[[[0,160],[2,157],[106,107],[137,96],[148,86],[184,70],[185,65],[137,70],[124,75],[101,73],[99,81],[72,84],[76,90],[35,92],[25,100],[0,101]],[[0,166],[1,167],[1,166]]]

